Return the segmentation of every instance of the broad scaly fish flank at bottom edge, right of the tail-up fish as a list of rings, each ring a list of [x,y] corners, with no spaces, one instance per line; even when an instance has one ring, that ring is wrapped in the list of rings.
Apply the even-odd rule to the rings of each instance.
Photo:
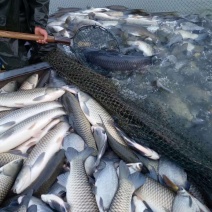
[[[172,202],[176,196],[174,192],[150,178],[146,178],[145,184],[137,189],[135,194],[147,202],[153,211],[157,209],[158,212],[171,211]]]

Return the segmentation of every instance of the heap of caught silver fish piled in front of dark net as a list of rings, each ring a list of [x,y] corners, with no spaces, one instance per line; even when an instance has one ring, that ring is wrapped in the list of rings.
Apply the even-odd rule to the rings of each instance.
[[[210,211],[178,164],[95,99],[53,71],[38,81],[1,88],[0,211]]]

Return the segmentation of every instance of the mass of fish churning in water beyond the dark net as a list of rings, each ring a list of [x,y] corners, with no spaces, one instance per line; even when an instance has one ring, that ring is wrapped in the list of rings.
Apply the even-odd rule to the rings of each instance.
[[[108,29],[122,54],[86,50],[88,62],[101,67],[94,70],[110,77],[126,101],[165,120],[177,134],[198,140],[200,151],[212,161],[211,11],[148,13],[118,5],[59,8],[51,15],[48,29],[54,35],[72,37],[88,25]],[[73,56],[70,47],[63,48]],[[130,66],[125,58],[133,61]]]

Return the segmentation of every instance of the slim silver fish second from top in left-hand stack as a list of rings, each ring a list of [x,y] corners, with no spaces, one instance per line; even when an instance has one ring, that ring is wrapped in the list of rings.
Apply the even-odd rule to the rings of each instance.
[[[60,107],[62,107],[62,105],[59,102],[46,102],[11,111],[7,116],[0,119],[0,133],[5,132],[11,127],[38,113]]]

